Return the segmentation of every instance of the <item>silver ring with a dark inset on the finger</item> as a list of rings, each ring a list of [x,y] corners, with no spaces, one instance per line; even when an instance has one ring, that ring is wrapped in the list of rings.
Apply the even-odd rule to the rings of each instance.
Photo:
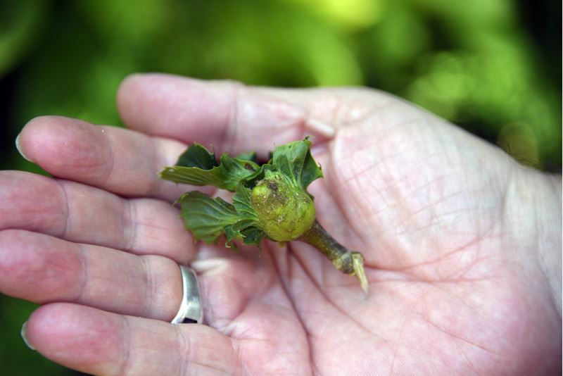
[[[188,324],[203,322],[203,305],[201,303],[201,294],[199,294],[198,277],[194,270],[184,265],[179,265],[182,272],[182,285],[184,292],[182,296],[182,304],[172,324]]]

